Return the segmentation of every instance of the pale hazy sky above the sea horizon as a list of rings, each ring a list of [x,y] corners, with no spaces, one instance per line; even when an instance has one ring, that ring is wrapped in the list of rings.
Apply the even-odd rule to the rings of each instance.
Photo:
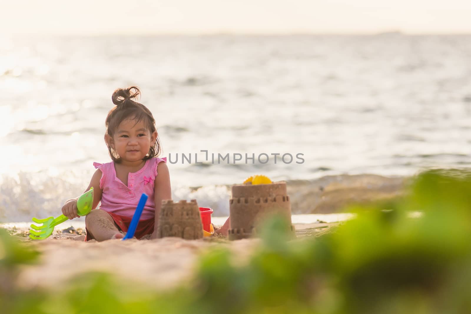
[[[2,0],[3,34],[471,33],[470,0]]]

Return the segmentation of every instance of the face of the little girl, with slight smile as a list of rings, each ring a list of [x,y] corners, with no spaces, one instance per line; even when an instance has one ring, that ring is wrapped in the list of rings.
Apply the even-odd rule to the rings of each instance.
[[[106,142],[123,161],[135,162],[142,160],[157,138],[157,132],[150,133],[144,121],[133,118],[123,120],[116,128],[113,137],[105,135]]]

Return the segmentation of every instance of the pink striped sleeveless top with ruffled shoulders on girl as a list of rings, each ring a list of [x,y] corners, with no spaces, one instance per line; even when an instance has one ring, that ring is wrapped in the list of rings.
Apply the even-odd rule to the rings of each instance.
[[[127,186],[116,177],[114,162],[93,163],[103,173],[100,179],[100,188],[103,190],[100,209],[132,217],[142,193],[146,193],[148,198],[140,220],[154,218],[154,181],[157,177],[157,165],[162,161],[166,163],[167,157],[147,159],[144,167],[128,174]]]

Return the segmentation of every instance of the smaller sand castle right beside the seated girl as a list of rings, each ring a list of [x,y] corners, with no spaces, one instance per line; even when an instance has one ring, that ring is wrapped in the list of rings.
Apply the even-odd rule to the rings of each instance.
[[[187,240],[203,237],[203,224],[195,199],[174,203],[163,200],[157,227],[157,237],[177,236]]]

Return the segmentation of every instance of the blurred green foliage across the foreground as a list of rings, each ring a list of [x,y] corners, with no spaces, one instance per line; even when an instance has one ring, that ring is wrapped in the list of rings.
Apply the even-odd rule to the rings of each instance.
[[[291,241],[269,220],[247,262],[221,245],[177,289],[94,273],[53,293],[10,285],[0,300],[3,313],[471,313],[470,209],[468,173],[430,171],[403,198],[348,208],[357,218],[319,238]],[[0,274],[36,259],[21,244],[0,232]]]

